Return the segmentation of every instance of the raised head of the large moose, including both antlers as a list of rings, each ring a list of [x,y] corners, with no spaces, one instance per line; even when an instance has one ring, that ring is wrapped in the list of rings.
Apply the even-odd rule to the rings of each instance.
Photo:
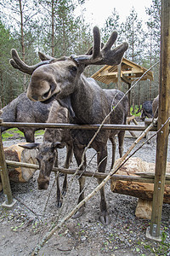
[[[94,27],[94,47],[85,55],[71,55],[70,57],[52,58],[39,53],[42,61],[34,66],[28,66],[20,60],[15,49],[12,49],[10,60],[14,68],[23,73],[31,74],[31,82],[28,86],[27,96],[33,101],[45,102],[56,97],[71,95],[75,90],[80,75],[88,65],[118,65],[122,61],[122,55],[127,50],[127,43],[123,43],[111,49],[115,43],[117,32],[112,32],[108,42],[101,49],[100,33],[97,26]],[[91,54],[91,55],[89,55]]]

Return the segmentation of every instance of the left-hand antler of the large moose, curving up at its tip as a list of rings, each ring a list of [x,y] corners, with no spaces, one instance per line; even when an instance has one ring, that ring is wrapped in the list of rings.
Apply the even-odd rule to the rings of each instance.
[[[11,50],[12,59],[9,61],[10,64],[14,67],[19,69],[23,73],[32,74],[37,67],[40,67],[45,64],[49,64],[51,61],[54,61],[54,58],[47,57],[46,55],[42,55],[39,53],[39,56],[42,61],[38,62],[36,65],[28,66],[25,62],[20,60],[20,56],[18,55],[16,49]]]

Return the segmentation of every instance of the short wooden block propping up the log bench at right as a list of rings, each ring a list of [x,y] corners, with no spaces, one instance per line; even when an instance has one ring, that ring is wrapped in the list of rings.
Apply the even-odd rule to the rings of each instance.
[[[138,200],[135,215],[138,218],[151,219],[152,201]]]

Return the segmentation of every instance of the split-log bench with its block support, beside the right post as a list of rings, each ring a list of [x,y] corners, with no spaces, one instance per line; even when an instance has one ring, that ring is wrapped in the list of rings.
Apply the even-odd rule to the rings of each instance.
[[[118,175],[147,177],[149,173],[155,173],[155,163],[147,163],[139,158],[133,157],[127,160],[124,166],[116,172]],[[167,163],[167,176],[170,174],[170,163]],[[154,183],[139,183],[133,181],[111,180],[111,191],[123,195],[132,195],[139,198],[135,215],[139,218],[151,217],[152,198]],[[170,185],[165,185],[164,203],[170,203]]]

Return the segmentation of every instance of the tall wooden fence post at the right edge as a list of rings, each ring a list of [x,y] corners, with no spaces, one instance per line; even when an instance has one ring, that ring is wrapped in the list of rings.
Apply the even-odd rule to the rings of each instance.
[[[159,89],[159,129],[170,115],[170,2],[161,0],[161,58],[160,58],[160,89]],[[157,134],[156,146],[156,173],[153,194],[153,207],[150,222],[150,230],[146,237],[161,241],[161,212],[164,195],[165,174],[167,166],[167,140],[169,124],[165,125]]]

